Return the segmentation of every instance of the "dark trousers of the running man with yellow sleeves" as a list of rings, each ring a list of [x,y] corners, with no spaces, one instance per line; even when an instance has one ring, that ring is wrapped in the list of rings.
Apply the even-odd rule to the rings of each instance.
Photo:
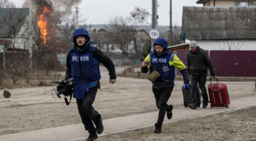
[[[155,95],[156,106],[159,109],[157,123],[162,125],[166,111],[171,111],[170,106],[167,104],[167,101],[171,97],[173,87],[168,87],[163,90],[157,90],[156,88],[152,88],[152,90]]]

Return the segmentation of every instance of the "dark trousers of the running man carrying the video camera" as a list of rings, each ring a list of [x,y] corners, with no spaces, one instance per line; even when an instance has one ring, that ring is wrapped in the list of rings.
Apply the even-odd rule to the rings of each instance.
[[[84,124],[85,130],[89,130],[89,133],[96,130],[93,122],[98,123],[101,118],[101,115],[92,106],[96,93],[97,88],[93,87],[89,89],[89,92],[85,93],[84,99],[76,99],[82,123]]]

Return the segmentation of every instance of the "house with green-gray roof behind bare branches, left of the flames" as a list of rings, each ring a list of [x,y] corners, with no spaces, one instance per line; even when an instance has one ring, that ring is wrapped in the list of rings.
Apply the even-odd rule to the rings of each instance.
[[[35,32],[40,32],[29,8],[0,8],[0,53],[32,51]],[[37,30],[37,31],[35,31]]]

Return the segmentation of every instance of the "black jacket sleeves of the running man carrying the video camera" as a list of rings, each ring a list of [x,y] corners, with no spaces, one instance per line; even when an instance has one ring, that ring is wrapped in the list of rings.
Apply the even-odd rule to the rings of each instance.
[[[117,77],[115,76],[115,65],[114,63],[112,62],[112,60],[106,55],[104,54],[101,50],[99,49],[95,49],[92,57],[98,59],[99,61],[102,62],[102,64],[108,68],[108,71],[109,71],[109,76],[110,78],[109,79],[116,79]],[[67,54],[67,61],[66,61],[66,67],[67,67],[67,70],[66,70],[66,77],[64,80],[67,80],[69,78],[71,78],[71,65],[70,65],[70,60],[71,60],[71,54],[70,52]]]

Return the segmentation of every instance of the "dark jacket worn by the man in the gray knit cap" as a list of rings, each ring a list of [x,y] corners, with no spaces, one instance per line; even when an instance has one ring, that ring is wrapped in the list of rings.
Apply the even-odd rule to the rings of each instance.
[[[215,76],[213,63],[208,53],[200,47],[197,47],[195,52],[189,50],[187,53],[187,70],[189,74],[206,74],[207,67],[209,68],[210,75]]]

